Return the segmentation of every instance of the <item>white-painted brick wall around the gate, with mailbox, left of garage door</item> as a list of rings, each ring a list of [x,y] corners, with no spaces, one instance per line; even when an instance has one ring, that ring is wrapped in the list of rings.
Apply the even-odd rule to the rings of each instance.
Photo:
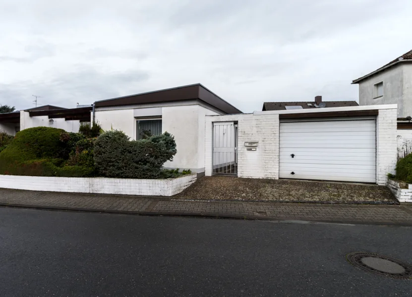
[[[205,125],[205,174],[212,175],[213,122],[238,122],[238,177],[279,178],[279,115],[207,116]],[[245,142],[258,141],[256,151],[247,151]]]

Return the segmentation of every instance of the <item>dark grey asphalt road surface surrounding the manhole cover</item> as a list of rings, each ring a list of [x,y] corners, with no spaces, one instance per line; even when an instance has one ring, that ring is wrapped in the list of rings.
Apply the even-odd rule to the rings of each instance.
[[[412,228],[0,208],[0,296],[411,296],[345,255],[412,262]]]

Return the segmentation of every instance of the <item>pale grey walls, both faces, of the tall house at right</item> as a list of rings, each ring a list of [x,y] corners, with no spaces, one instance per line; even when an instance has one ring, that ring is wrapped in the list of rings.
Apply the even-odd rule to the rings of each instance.
[[[375,92],[383,83],[383,96]],[[359,84],[359,105],[398,104],[398,118],[412,116],[412,63],[402,62],[371,75]]]

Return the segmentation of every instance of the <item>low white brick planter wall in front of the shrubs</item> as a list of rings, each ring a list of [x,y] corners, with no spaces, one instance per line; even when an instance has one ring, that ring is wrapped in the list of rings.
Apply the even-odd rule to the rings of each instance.
[[[0,175],[0,188],[69,193],[173,196],[189,187],[196,179],[196,174],[169,179]]]

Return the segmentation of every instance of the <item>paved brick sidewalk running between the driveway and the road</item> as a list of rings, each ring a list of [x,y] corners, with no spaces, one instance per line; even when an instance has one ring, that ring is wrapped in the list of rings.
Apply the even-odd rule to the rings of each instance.
[[[0,206],[149,215],[412,225],[412,207],[406,205],[191,201],[174,198],[0,189]]]

